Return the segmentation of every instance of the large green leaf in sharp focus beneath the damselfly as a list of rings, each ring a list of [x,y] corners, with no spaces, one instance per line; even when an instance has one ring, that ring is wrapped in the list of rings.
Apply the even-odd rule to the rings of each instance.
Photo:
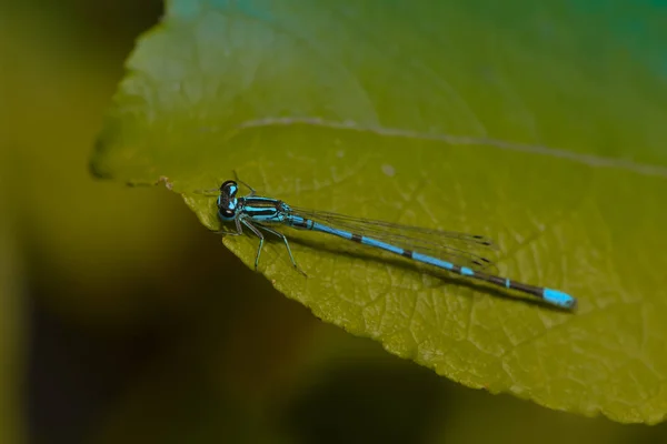
[[[604,18],[456,3],[173,0],[128,62],[93,171],[162,179],[211,230],[215,199],[192,192],[236,170],[295,205],[492,236],[501,275],[563,289],[579,310],[288,229],[308,278],[278,240],[259,271],[468,386],[659,422],[664,79],[650,53],[616,50],[626,38]],[[252,266],[256,238],[223,242]]]

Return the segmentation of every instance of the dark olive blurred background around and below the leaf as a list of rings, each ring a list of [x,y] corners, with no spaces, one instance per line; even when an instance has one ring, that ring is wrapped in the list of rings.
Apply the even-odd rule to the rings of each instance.
[[[599,2],[597,2],[599,3]],[[663,443],[326,325],[88,159],[159,0],[0,0],[0,443]]]

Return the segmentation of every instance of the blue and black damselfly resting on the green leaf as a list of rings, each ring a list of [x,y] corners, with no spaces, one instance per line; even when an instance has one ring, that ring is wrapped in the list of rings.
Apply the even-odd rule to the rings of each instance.
[[[237,196],[239,191],[237,181],[246,185],[250,193]],[[255,258],[256,270],[259,265],[259,256],[265,242],[262,232],[266,232],[282,240],[292,265],[303,273],[295,261],[287,238],[275,230],[278,225],[286,225],[297,230],[327,233],[385,250],[466,278],[530,294],[561,309],[575,309],[577,305],[575,297],[561,291],[528,285],[488,273],[486,270],[492,264],[491,261],[472,253],[472,249],[467,248],[492,245],[492,242],[485,236],[357,219],[325,211],[305,210],[288,205],[278,199],[258,195],[251,186],[238,179],[236,181],[228,180],[220,185],[217,204],[219,219],[222,222],[233,222],[236,225],[236,232],[225,233],[239,235],[243,233],[243,228],[247,228],[259,238],[259,246]]]

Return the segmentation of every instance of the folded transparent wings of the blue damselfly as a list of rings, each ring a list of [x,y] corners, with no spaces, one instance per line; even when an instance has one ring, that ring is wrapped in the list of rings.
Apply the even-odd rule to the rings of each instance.
[[[338,230],[372,238],[401,249],[412,250],[472,270],[495,270],[486,258],[496,244],[488,238],[455,231],[430,230],[419,226],[352,218],[327,211],[291,208],[291,213]]]

